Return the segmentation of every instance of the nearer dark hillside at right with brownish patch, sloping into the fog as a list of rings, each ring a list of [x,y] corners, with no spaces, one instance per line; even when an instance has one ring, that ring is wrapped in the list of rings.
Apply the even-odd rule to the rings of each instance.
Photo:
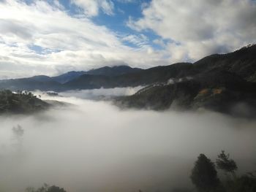
[[[192,79],[150,85],[133,96],[118,97],[120,107],[150,110],[214,110],[252,117],[256,112],[256,83],[240,76],[212,69]]]

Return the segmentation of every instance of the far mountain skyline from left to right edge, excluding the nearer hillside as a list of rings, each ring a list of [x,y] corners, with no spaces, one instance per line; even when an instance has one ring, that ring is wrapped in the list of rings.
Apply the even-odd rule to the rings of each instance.
[[[243,47],[233,53],[210,55],[194,64],[179,63],[138,69],[129,66],[105,66],[88,72],[67,72],[56,77],[35,76],[15,80],[0,80],[0,88],[11,90],[66,91],[72,89],[115,88],[165,83],[185,77],[220,71],[236,74],[242,79],[256,82],[256,45]]]

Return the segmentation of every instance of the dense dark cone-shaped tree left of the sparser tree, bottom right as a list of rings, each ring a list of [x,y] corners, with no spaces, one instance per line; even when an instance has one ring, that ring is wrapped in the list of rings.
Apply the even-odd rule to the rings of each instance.
[[[211,191],[219,185],[215,165],[204,154],[200,154],[195,161],[190,178],[198,191]]]

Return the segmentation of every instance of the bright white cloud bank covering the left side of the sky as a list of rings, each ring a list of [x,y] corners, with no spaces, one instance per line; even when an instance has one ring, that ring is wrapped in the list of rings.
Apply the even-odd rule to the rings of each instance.
[[[46,1],[0,2],[1,77],[54,75],[124,63],[167,64],[163,53],[126,46],[124,35],[97,26],[89,18],[74,18],[62,8]],[[34,46],[44,54],[31,49]]]

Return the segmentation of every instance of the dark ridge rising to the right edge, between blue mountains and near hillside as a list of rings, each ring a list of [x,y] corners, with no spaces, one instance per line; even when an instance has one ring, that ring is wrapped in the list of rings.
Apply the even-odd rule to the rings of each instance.
[[[66,85],[67,88],[79,89],[150,85],[167,82],[170,79],[194,77],[213,69],[231,72],[241,76],[244,80],[256,82],[256,45],[242,48],[233,53],[210,55],[194,64],[179,63],[170,66],[157,66],[127,74],[118,74],[114,77],[102,74],[98,76],[83,74],[72,82],[67,82]]]

